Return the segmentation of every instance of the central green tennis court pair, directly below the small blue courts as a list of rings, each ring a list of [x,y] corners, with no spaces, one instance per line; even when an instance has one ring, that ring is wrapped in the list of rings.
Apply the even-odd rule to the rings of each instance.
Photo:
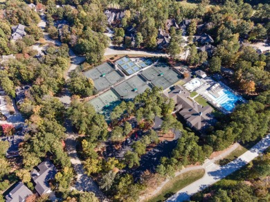
[[[146,89],[151,89],[151,86],[138,75],[114,87],[114,91],[116,91],[121,98],[127,100],[135,98],[136,95],[143,93]]]

